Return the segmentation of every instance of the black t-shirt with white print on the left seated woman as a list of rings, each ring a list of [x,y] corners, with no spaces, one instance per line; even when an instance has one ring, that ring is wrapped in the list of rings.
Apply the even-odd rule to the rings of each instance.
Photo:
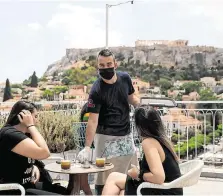
[[[19,183],[32,188],[32,169],[35,160],[12,152],[22,140],[28,138],[12,126],[0,130],[0,183]]]

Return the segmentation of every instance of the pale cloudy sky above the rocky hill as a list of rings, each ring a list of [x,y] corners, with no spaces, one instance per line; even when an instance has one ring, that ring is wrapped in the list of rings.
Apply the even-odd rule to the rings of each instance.
[[[105,5],[118,1],[0,0],[0,81],[41,77],[66,48],[105,46]],[[223,0],[135,0],[109,9],[109,46],[187,39],[223,48]]]

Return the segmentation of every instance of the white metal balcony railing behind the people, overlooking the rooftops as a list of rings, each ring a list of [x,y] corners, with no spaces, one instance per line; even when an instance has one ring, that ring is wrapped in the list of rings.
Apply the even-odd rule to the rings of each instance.
[[[182,102],[181,102],[182,103]],[[194,102],[188,102],[195,104]],[[188,104],[187,103],[187,104]],[[215,102],[222,104],[222,102]],[[197,103],[196,103],[197,104]],[[223,165],[223,109],[159,109],[166,132],[181,160],[203,159],[205,164]],[[80,109],[64,109],[41,111],[41,113],[63,113],[79,117]],[[133,108],[131,114],[133,114]],[[0,125],[5,122],[8,114],[0,115]],[[77,144],[84,141],[86,123],[77,122],[73,125]],[[141,154],[140,137],[131,119],[131,131],[135,145]],[[80,148],[81,145],[78,147]]]

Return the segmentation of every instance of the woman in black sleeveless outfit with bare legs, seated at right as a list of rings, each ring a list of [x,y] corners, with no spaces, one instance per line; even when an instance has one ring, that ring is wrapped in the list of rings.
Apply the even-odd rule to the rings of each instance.
[[[102,195],[136,195],[142,182],[163,184],[181,176],[178,158],[168,140],[162,120],[154,109],[138,108],[135,111],[135,124],[142,137],[143,159],[140,169],[133,167],[128,175],[111,173]],[[183,195],[182,188],[145,188],[142,195]]]

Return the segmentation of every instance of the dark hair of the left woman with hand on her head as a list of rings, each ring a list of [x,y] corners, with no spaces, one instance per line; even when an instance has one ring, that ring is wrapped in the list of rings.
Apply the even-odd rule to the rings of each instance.
[[[31,113],[33,113],[33,111],[35,109],[37,109],[37,106],[34,103],[31,103],[29,101],[18,101],[18,102],[16,102],[11,109],[11,112],[8,116],[8,119],[5,123],[5,126],[18,125],[20,123],[20,121],[18,119],[18,114],[22,110],[29,110]]]

